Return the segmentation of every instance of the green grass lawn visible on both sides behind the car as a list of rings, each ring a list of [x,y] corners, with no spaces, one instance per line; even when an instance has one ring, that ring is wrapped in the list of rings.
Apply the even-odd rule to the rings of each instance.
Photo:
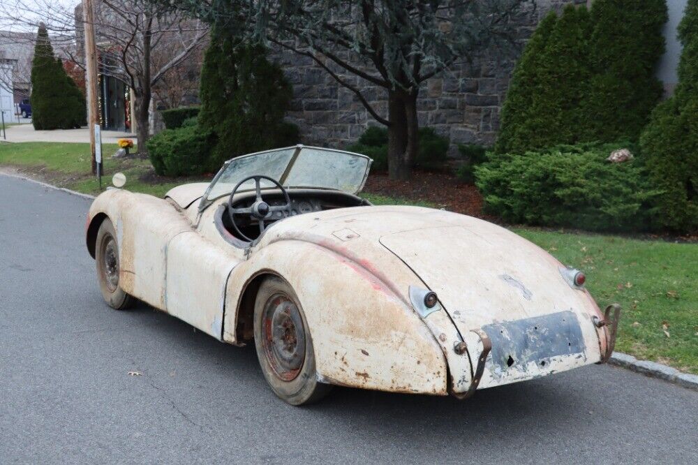
[[[126,189],[162,196],[173,186],[206,178],[163,180],[148,160],[110,158],[105,145],[103,186],[115,172]],[[98,193],[89,174],[89,145],[50,142],[0,143],[0,166],[14,166],[46,182],[83,193]],[[367,193],[376,205],[429,205]],[[628,239],[609,235],[512,228],[565,265],[584,270],[600,307],[623,306],[616,349],[698,374],[698,244]]]

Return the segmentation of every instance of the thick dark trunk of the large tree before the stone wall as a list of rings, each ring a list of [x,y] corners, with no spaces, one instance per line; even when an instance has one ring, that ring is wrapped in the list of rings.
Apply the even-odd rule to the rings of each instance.
[[[417,160],[419,124],[417,123],[417,91],[388,91],[388,175],[390,179],[407,180]]]

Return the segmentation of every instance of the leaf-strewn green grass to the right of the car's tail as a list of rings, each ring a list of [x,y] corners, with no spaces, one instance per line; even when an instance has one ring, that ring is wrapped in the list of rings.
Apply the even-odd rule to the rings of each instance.
[[[698,374],[698,244],[516,228],[623,307],[616,350]]]

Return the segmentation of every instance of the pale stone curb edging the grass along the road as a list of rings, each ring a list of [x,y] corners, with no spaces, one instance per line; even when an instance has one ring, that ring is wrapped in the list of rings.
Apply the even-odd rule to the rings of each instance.
[[[15,177],[17,179],[24,179],[25,181],[35,182],[40,186],[49,187],[50,189],[55,189],[57,191],[64,191],[66,193],[77,195],[78,197],[94,199],[93,195],[87,195],[84,193],[71,191],[70,189],[64,189],[62,187],[52,186],[51,184],[46,184],[45,182],[37,181],[36,179],[31,179],[31,177],[13,175],[8,172],[0,171],[0,175]],[[664,381],[669,381],[669,383],[678,384],[683,388],[688,388],[698,391],[698,375],[682,373],[676,368],[667,367],[667,365],[662,365],[657,362],[650,362],[648,360],[637,360],[637,358],[632,355],[628,355],[622,352],[614,352],[609,359],[609,364],[616,365],[617,367],[623,367],[631,371],[635,371],[646,376],[651,376],[652,378],[659,378]]]

